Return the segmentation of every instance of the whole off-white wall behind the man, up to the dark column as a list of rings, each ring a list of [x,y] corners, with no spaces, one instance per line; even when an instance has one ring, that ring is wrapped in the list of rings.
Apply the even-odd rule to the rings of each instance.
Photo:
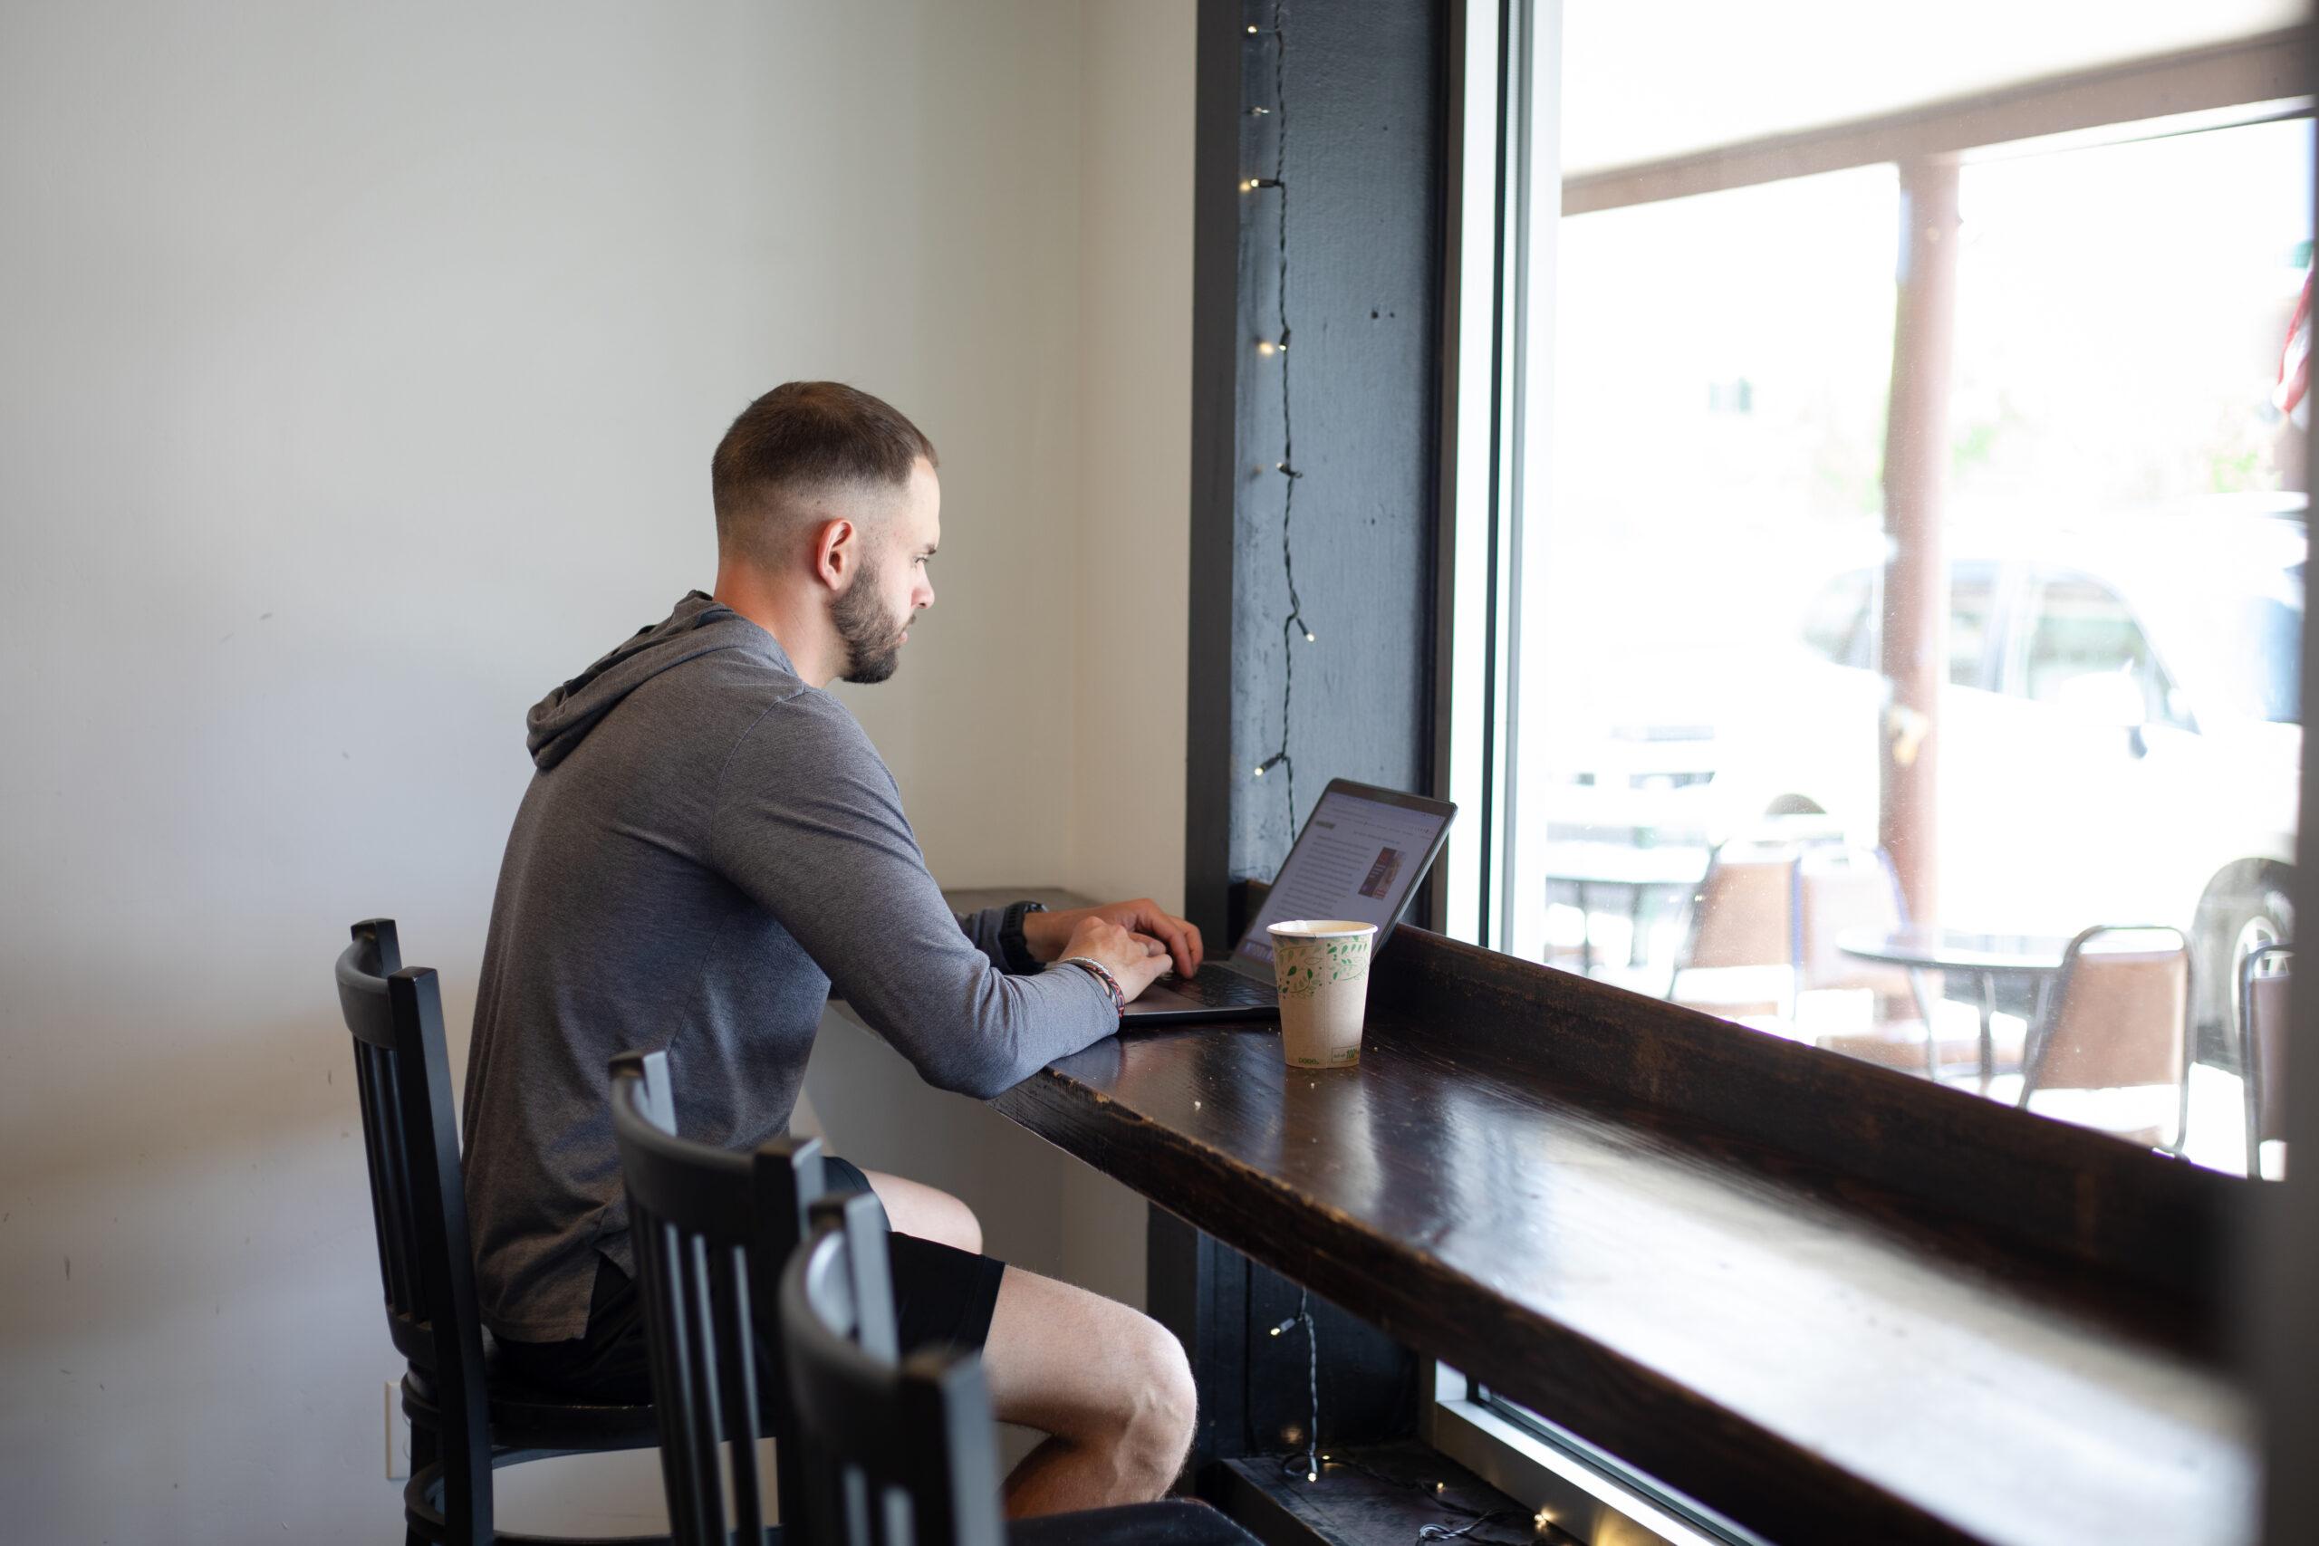
[[[522,712],[710,579],[775,380],[944,452],[851,698],[937,874],[1173,897],[1190,67],[1180,2],[0,5],[9,1539],[399,1537],[327,967],[399,916],[464,1052]]]

